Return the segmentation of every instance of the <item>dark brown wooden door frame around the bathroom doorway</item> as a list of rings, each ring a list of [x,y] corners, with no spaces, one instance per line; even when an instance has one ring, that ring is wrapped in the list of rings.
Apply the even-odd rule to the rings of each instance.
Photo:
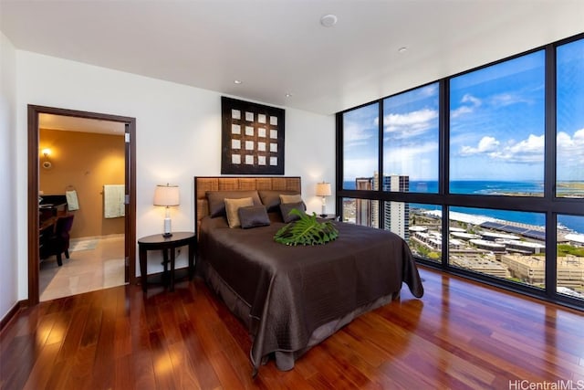
[[[125,127],[125,193],[127,197],[124,221],[125,273],[131,284],[136,284],[136,119],[98,112],[76,111],[28,105],[28,304],[39,302],[38,258],[38,163],[39,115],[41,113],[87,118],[101,121],[118,121]],[[128,199],[129,198],[129,199]]]

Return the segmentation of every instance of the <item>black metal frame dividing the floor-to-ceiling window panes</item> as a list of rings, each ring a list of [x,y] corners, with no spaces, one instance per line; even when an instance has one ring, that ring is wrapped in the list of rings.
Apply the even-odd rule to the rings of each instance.
[[[488,285],[504,288],[506,290],[513,290],[527,296],[532,296],[537,299],[556,302],[577,310],[584,310],[584,301],[576,298],[559,294],[557,292],[557,226],[558,215],[570,216],[584,216],[584,198],[569,198],[558,197],[556,194],[557,183],[557,140],[556,140],[556,49],[557,47],[568,44],[573,41],[584,39],[584,34],[579,34],[574,37],[559,40],[554,43],[547,44],[543,47],[536,47],[526,52],[503,58],[484,66],[469,69],[464,72],[445,77],[443,79],[433,80],[432,82],[416,86],[409,90],[403,90],[397,94],[382,97],[378,100],[372,100],[358,107],[354,107],[345,111],[340,111],[336,114],[337,127],[337,160],[336,160],[336,206],[337,210],[342,210],[343,198],[355,199],[370,199],[381,202],[404,202],[404,203],[419,203],[427,205],[436,205],[442,207],[443,216],[448,216],[450,207],[480,207],[487,209],[503,209],[516,210],[525,212],[542,213],[546,216],[546,289],[536,289],[525,284],[519,284],[511,280],[495,279],[484,274],[479,274],[466,269],[458,269],[449,265],[449,250],[448,250],[448,236],[443,235],[443,251],[442,261],[433,262],[424,258],[416,258],[420,264],[424,266],[440,269],[454,275],[463,276],[468,279],[475,279]],[[449,107],[449,83],[450,79],[454,79],[465,73],[473,72],[479,69],[484,69],[495,64],[525,56],[539,50],[545,51],[545,146],[544,146],[544,193],[543,196],[509,196],[509,195],[465,195],[465,194],[451,194],[449,191],[450,183],[450,150],[449,150],[449,126],[450,126],[450,107]],[[357,108],[366,106],[372,103],[379,103],[380,118],[383,118],[383,100],[391,98],[392,96],[416,90],[427,85],[438,83],[439,88],[439,172],[438,172],[438,192],[437,193],[401,193],[401,192],[385,192],[380,188],[379,190],[362,191],[362,190],[346,190],[343,189],[343,114],[344,112],[355,110]],[[380,120],[380,147],[379,147],[379,174],[383,173],[383,123]],[[379,207],[379,220],[383,220],[381,216],[381,209]],[[448,231],[448,218],[442,218],[443,231]],[[382,222],[380,224],[382,226]]]

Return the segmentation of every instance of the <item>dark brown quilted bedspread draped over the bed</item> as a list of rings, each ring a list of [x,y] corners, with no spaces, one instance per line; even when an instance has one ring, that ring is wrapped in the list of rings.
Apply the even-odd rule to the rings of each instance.
[[[401,237],[335,225],[336,241],[288,247],[273,240],[284,224],[230,229],[222,217],[203,218],[197,270],[204,275],[206,267],[213,269],[249,307],[255,368],[270,353],[306,349],[319,326],[396,293],[402,282],[422,297],[422,281]]]

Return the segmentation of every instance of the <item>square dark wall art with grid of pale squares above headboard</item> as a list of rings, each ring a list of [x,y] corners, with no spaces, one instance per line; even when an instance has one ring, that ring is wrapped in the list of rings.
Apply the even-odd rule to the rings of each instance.
[[[284,110],[222,97],[221,113],[221,174],[284,174]]]

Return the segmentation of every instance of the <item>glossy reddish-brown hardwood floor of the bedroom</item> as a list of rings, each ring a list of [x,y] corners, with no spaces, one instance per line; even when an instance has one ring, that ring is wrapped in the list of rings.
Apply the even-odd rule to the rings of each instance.
[[[200,279],[42,302],[0,334],[0,387],[584,388],[584,313],[421,274],[422,300],[404,286],[401,300],[352,321],[294,370],[270,362],[255,378],[245,328]]]

